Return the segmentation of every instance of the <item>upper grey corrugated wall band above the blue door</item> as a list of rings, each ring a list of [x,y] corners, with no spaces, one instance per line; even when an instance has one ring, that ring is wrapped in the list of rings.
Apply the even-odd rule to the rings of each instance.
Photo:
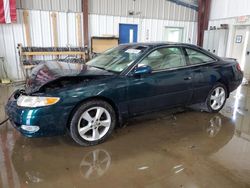
[[[89,11],[99,15],[197,21],[197,11],[167,0],[90,0]]]

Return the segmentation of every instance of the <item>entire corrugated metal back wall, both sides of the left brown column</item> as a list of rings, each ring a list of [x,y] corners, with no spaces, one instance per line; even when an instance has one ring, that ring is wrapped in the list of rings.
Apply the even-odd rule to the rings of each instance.
[[[57,14],[59,46],[77,46],[76,14],[82,11],[81,0],[17,0],[17,7],[18,22],[0,25],[0,56],[5,57],[7,73],[12,80],[24,78],[16,48],[18,43],[26,46],[23,9],[28,9],[30,14],[32,46],[41,47],[53,46],[53,11]],[[183,41],[196,44],[197,12],[176,3],[167,0],[89,0],[89,8],[90,37],[118,36],[119,23],[134,23],[139,28],[138,41],[163,40],[164,27],[168,26],[182,27]]]

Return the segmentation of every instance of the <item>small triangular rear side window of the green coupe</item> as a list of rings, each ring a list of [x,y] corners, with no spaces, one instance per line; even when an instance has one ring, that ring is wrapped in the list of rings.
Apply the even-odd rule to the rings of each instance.
[[[213,58],[193,49],[186,48],[186,52],[191,65],[208,63],[214,61]]]

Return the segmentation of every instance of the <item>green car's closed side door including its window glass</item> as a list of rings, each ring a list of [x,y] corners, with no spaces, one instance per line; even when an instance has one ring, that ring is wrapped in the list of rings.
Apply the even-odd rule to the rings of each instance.
[[[192,80],[183,50],[161,47],[153,50],[138,66],[150,66],[151,74],[129,77],[129,112],[132,115],[185,105],[192,95]]]

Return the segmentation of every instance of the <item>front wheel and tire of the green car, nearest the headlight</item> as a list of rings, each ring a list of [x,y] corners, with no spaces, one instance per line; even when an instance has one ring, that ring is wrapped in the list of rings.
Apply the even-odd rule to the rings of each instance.
[[[116,114],[110,104],[102,100],[83,103],[70,121],[70,135],[81,146],[104,142],[116,125]]]

